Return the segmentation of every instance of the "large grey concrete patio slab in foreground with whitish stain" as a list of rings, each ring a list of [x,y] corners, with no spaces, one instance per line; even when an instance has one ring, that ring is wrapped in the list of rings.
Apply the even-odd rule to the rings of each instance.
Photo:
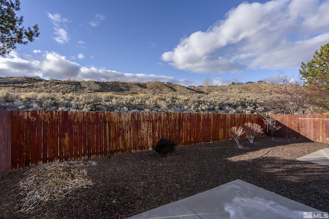
[[[129,218],[301,219],[313,218],[313,212],[319,210],[242,180],[235,180]]]

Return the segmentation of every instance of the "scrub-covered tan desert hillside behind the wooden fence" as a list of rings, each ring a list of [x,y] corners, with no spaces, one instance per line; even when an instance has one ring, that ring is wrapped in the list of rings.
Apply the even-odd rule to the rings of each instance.
[[[78,82],[0,78],[0,109],[270,113],[286,102],[285,85],[248,83],[185,87],[161,82]],[[266,104],[265,104],[266,103]],[[301,108],[299,113],[305,113]]]

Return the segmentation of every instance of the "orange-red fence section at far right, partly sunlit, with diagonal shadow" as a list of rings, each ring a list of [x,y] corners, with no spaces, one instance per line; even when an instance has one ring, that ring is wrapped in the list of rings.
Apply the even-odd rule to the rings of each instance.
[[[329,114],[270,116],[282,125],[276,136],[329,143]]]

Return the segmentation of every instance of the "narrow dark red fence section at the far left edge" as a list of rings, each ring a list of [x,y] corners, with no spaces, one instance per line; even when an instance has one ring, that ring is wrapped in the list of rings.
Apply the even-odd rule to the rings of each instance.
[[[11,112],[0,110],[0,178],[11,168]]]

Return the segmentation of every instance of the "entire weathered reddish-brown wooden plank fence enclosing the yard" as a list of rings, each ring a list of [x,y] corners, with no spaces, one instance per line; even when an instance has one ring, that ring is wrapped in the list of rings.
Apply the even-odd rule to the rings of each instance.
[[[34,164],[151,150],[160,138],[176,145],[229,140],[260,114],[0,111],[0,177]],[[270,115],[276,136],[329,143],[329,115]]]

